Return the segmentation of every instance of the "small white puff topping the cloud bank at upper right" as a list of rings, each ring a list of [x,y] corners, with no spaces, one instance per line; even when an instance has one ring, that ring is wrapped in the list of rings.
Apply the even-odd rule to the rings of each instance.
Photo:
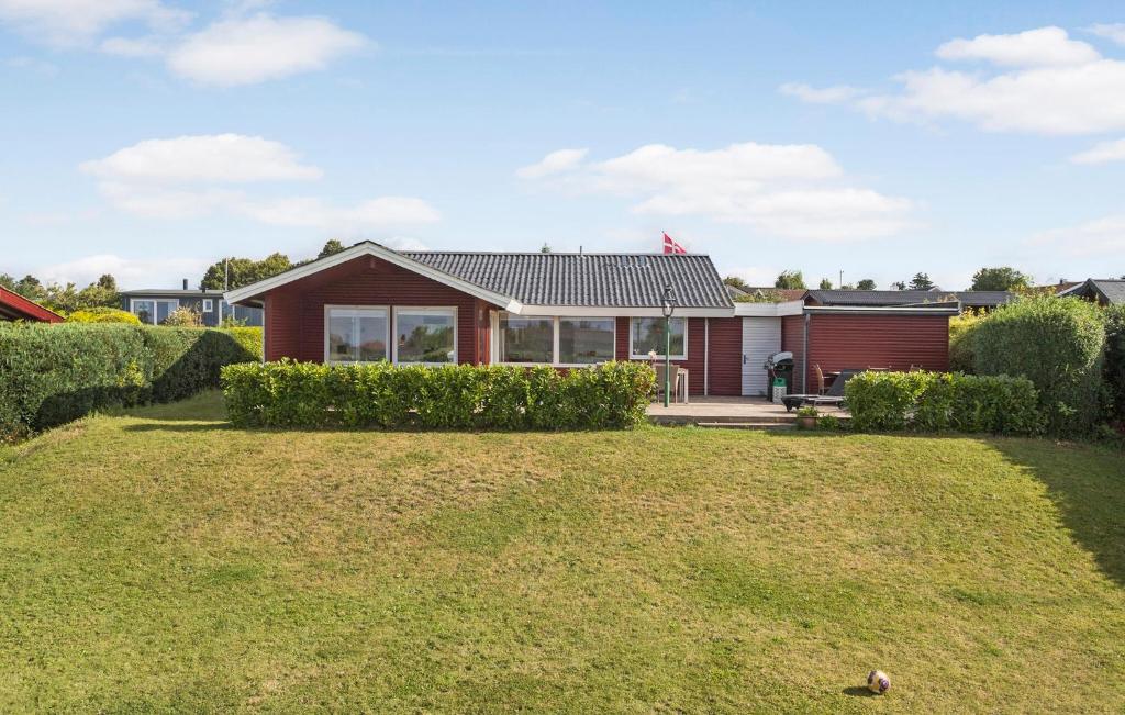
[[[983,60],[1009,67],[1088,64],[1100,57],[1090,45],[1070,39],[1061,27],[951,39],[936,54],[943,60]]]

